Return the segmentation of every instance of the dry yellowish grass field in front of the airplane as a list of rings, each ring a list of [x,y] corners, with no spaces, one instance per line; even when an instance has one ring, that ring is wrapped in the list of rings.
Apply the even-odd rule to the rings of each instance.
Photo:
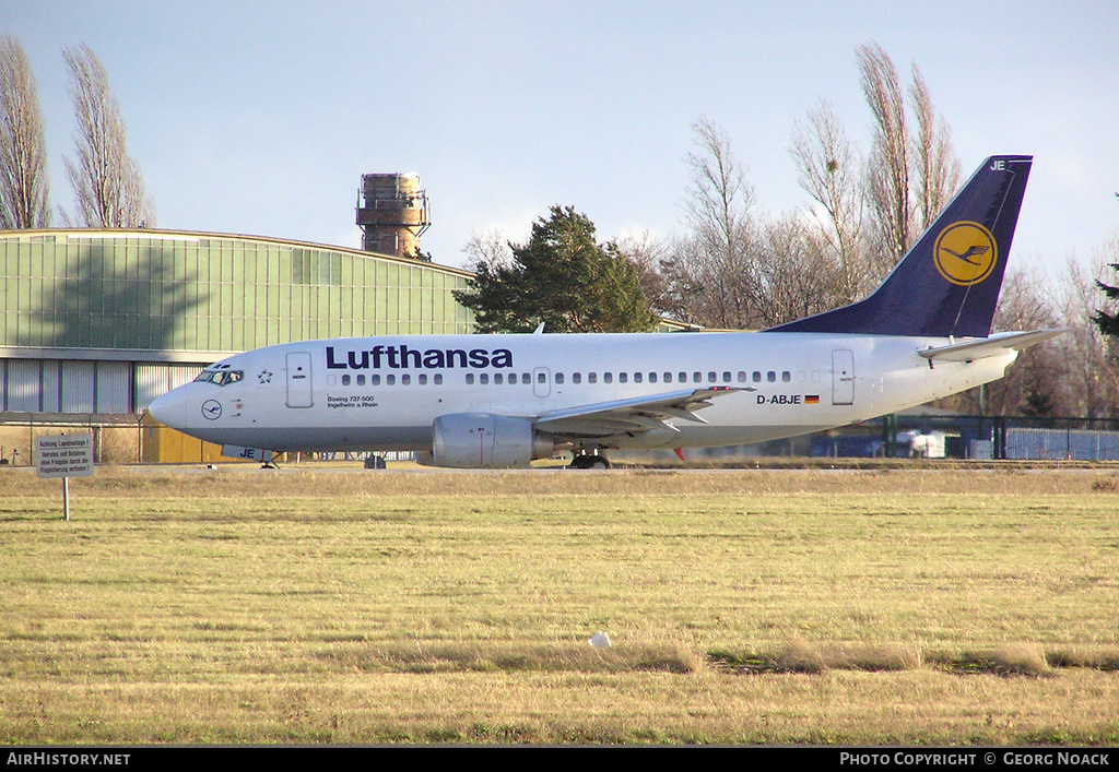
[[[1119,743],[1107,471],[102,468],[70,497],[0,471],[0,743]]]

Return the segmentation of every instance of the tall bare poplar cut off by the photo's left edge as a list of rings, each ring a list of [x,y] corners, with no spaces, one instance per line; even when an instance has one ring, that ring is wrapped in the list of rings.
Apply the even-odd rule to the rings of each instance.
[[[47,150],[23,47],[0,37],[0,229],[50,225]]]

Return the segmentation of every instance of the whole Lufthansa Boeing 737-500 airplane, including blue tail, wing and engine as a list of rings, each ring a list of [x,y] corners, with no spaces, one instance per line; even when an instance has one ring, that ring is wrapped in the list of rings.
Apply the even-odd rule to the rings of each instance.
[[[991,335],[1028,156],[968,180],[865,300],[761,332],[399,336],[269,346],[207,367],[151,415],[267,461],[417,451],[524,467],[564,450],[733,445],[841,426],[1000,378],[1062,330]]]

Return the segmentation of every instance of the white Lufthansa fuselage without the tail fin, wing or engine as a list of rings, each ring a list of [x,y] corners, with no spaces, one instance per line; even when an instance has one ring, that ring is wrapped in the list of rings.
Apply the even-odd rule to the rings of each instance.
[[[620,433],[604,448],[698,448],[803,434],[893,413],[1003,376],[1016,351],[937,361],[944,338],[721,332],[399,336],[284,343],[229,357],[151,406],[218,444],[274,451],[432,446],[441,415],[538,416],[688,388],[735,389],[676,431]],[[220,380],[222,378],[217,378]]]

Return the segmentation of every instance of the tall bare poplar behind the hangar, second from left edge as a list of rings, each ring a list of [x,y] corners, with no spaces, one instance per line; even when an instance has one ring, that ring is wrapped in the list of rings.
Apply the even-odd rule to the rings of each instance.
[[[77,162],[66,159],[81,222],[91,227],[153,227],[140,167],[128,154],[124,120],[109,76],[90,47],[64,49],[77,117]]]

